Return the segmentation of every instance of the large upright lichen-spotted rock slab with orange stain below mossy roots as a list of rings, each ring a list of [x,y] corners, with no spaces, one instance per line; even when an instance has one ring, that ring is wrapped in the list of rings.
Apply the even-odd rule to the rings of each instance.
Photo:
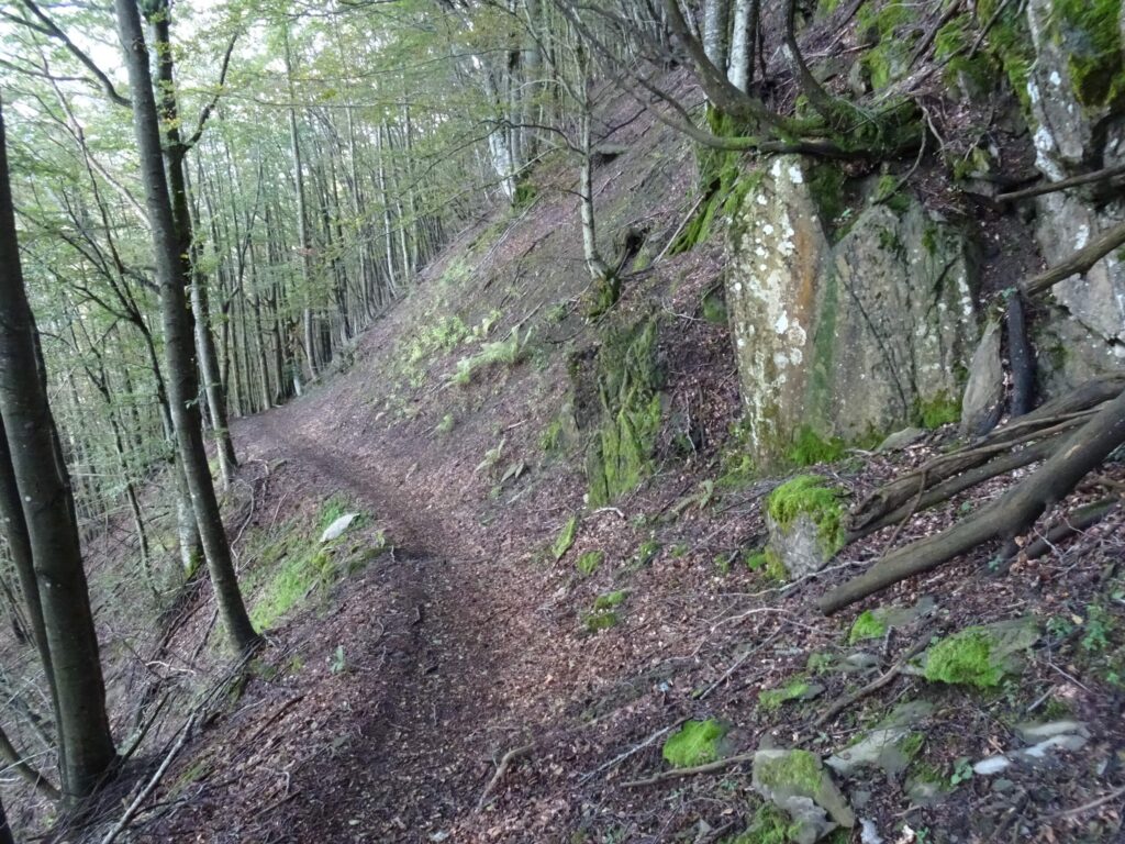
[[[767,162],[730,228],[727,300],[763,468],[798,440],[955,417],[978,334],[968,235],[900,194],[866,204],[834,243],[812,167]]]

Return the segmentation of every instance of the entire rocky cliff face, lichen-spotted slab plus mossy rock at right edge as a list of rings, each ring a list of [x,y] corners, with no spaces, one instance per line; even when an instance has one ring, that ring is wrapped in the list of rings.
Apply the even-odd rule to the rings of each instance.
[[[978,91],[958,107],[1010,102],[1004,123],[1026,124],[1027,160],[1034,151],[1047,181],[1125,163],[1120,0],[1030,0],[998,19],[997,46],[986,47],[993,52],[973,60],[990,63],[989,72],[970,75],[1008,93]],[[987,128],[992,119],[968,122]],[[972,152],[993,156],[993,176],[1015,174],[1006,171],[1010,159],[987,144]],[[802,463],[801,443],[871,443],[907,424],[955,419],[981,334],[978,308],[1020,280],[993,275],[980,294],[981,226],[971,206],[954,222],[899,189],[894,177],[846,178],[838,164],[802,156],[754,168],[730,221],[726,284],[758,465]],[[948,178],[955,173],[951,168]],[[1102,182],[1040,196],[1020,210],[1034,217],[1034,242],[1028,234],[1018,248],[1054,266],[1125,219],[1125,197]],[[993,253],[1012,248],[992,241]],[[1046,393],[1125,368],[1125,253],[1044,298],[1030,330]],[[975,404],[994,414],[1006,347],[998,329],[988,342],[989,353],[976,357],[991,367],[989,395]]]

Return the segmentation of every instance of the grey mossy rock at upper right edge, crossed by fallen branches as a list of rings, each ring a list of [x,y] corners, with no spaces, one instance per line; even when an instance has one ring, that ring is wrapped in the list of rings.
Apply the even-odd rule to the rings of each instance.
[[[1125,12],[1119,2],[1030,0],[1027,74],[1036,168],[1050,180],[1125,163]],[[1125,219],[1125,199],[1094,191],[1037,200],[1036,240],[1047,264]],[[1125,368],[1125,262],[1110,253],[1052,290],[1061,306],[1036,344],[1050,387]]]

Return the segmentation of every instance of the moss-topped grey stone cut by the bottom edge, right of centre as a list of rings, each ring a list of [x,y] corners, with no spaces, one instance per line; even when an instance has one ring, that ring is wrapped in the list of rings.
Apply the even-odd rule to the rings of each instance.
[[[847,800],[814,753],[759,749],[754,754],[753,784],[793,819],[794,842],[812,844],[839,826],[855,826]]]

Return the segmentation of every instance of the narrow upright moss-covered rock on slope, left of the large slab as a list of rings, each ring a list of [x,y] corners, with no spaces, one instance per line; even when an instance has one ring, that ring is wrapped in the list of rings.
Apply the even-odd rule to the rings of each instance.
[[[602,506],[631,492],[651,472],[662,408],[656,362],[657,322],[613,331],[597,353],[602,420],[586,455],[590,503]]]

